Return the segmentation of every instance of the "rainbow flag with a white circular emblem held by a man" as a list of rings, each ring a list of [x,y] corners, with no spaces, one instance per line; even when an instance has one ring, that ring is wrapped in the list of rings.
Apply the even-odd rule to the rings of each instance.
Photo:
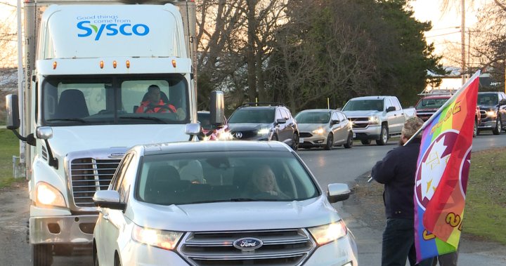
[[[414,196],[417,262],[456,251],[459,244],[479,73],[420,129]]]

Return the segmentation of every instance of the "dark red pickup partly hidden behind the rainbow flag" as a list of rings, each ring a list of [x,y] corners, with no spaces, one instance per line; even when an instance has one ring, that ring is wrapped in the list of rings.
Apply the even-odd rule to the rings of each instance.
[[[455,93],[455,91],[452,91],[452,93]],[[439,108],[451,98],[451,96],[452,94],[448,93],[434,93],[422,97],[415,105],[417,117],[420,117],[420,119],[423,121],[427,121],[429,117],[432,117],[432,115],[436,113],[437,110],[439,110]],[[473,137],[476,137],[476,135],[478,135],[478,126],[480,124],[480,121],[480,108],[476,105],[476,114],[474,114]]]

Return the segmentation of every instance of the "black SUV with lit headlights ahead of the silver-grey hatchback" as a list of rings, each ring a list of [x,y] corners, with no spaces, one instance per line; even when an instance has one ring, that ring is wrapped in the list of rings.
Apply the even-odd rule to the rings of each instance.
[[[299,147],[299,128],[290,110],[278,102],[249,102],[228,119],[235,140],[278,140]]]

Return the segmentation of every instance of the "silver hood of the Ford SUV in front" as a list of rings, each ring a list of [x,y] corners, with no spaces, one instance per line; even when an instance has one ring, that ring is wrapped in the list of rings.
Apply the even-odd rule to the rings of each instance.
[[[178,206],[136,202],[128,213],[135,213],[131,214],[131,218],[136,225],[181,232],[301,228],[340,220],[335,208],[323,195],[290,202],[219,202]]]

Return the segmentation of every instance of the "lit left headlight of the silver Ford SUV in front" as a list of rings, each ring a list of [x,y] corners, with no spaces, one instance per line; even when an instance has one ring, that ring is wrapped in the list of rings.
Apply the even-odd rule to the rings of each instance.
[[[176,248],[179,239],[183,236],[182,232],[156,230],[134,225],[132,239],[142,244],[156,246],[167,249],[168,251]]]

